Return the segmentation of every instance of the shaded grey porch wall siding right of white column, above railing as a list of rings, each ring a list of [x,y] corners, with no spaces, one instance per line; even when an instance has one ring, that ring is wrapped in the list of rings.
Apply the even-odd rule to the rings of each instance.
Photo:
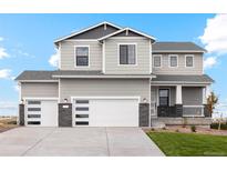
[[[183,88],[182,95],[184,105],[203,105],[203,88]]]

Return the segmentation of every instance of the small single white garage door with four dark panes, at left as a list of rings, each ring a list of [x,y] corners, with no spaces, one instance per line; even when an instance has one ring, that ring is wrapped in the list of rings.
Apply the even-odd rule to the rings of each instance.
[[[27,100],[25,125],[56,127],[58,101],[56,100]]]

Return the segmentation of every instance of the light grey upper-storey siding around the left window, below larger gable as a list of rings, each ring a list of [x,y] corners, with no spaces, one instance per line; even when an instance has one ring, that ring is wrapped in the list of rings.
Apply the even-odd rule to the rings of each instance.
[[[75,46],[90,46],[90,67],[75,68]],[[97,41],[63,41],[61,70],[102,70],[102,46]]]

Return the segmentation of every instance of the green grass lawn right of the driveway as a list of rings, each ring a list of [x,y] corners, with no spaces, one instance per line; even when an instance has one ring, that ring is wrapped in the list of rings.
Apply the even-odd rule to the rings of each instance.
[[[147,135],[168,157],[227,155],[227,137],[178,132],[148,132]]]

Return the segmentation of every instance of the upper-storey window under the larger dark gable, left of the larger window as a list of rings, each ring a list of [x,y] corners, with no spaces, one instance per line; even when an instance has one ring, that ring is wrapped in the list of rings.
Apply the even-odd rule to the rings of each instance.
[[[89,67],[89,47],[75,47],[75,66]]]

